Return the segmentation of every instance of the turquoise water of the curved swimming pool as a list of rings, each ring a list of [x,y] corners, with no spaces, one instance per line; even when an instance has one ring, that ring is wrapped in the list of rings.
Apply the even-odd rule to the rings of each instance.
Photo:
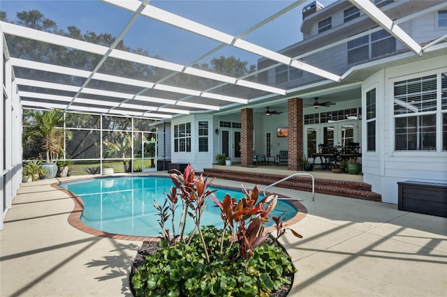
[[[163,176],[123,176],[114,178],[91,178],[59,184],[59,187],[73,192],[82,199],[84,209],[80,221],[89,227],[111,234],[129,236],[159,236],[161,228],[154,208],[154,200],[163,204],[166,193],[170,192],[173,182]],[[244,197],[241,190],[217,188],[214,194],[219,199],[228,193],[231,197]],[[203,213],[202,224],[223,227],[220,210],[208,199]],[[176,226],[180,217],[181,206],[175,213]],[[297,210],[286,201],[278,201],[272,215],[284,213],[289,220]],[[170,226],[170,220],[169,224]],[[193,222],[186,225],[186,232],[193,229]],[[177,231],[177,230],[176,230]]]

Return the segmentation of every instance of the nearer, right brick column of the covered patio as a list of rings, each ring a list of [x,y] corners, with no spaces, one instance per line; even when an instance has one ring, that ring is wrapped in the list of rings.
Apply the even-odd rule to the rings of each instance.
[[[288,170],[301,170],[299,166],[303,151],[302,99],[293,98],[287,102],[288,110]]]

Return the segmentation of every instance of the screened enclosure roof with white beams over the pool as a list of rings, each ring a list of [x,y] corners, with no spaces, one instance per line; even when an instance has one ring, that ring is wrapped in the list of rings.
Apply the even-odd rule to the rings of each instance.
[[[163,121],[296,96],[296,87],[258,79],[281,65],[320,85],[346,83],[350,72],[280,53],[302,40],[302,9],[312,2],[2,0],[1,31],[24,108]],[[372,2],[350,2],[413,55],[425,53]],[[274,63],[257,69],[260,59]]]

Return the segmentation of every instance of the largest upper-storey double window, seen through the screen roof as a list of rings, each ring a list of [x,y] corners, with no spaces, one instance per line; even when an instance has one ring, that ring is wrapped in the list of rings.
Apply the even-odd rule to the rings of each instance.
[[[371,40],[371,43],[369,43]],[[387,31],[381,30],[360,38],[351,40],[348,45],[348,64],[374,59],[383,54],[395,52],[396,39]]]

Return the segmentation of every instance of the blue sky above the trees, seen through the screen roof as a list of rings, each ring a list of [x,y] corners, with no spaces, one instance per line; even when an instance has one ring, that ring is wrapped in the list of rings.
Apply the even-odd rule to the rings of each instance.
[[[302,40],[300,32],[302,8],[311,2],[307,1],[242,39],[273,51],[297,43]],[[334,1],[320,2],[327,6]],[[149,2],[150,5],[233,36],[242,33],[291,3],[293,1],[282,0],[153,0]],[[45,17],[54,20],[59,29],[66,30],[67,26],[75,25],[82,30],[82,33],[94,31],[96,33],[111,33],[112,36],[118,36],[132,16],[126,10],[97,0],[1,0],[0,9],[6,11],[8,20],[15,21],[17,12],[36,9],[40,10]],[[138,20],[124,36],[124,43],[133,48],[140,47],[151,55],[161,56],[166,61],[180,64],[191,63],[219,45],[214,40],[173,28],[147,17],[138,17]],[[249,64],[256,64],[260,58],[229,46],[212,56],[221,55],[236,56],[242,61],[248,61]],[[204,61],[209,59],[210,57]]]

